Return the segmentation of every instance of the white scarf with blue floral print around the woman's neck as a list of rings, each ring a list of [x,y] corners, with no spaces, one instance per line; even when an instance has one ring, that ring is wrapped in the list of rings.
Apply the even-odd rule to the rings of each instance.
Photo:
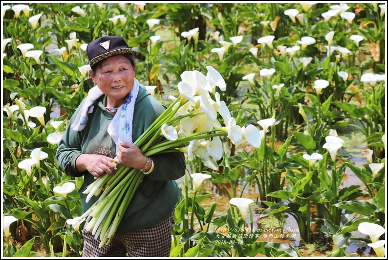
[[[116,143],[116,153],[118,152],[119,141],[128,141],[132,143],[132,122],[133,111],[137,94],[139,93],[139,81],[134,80],[133,88],[129,92],[128,98],[125,100],[114,115],[112,121],[108,125],[108,134]],[[96,100],[103,95],[98,86],[92,87],[87,93],[86,100],[81,107],[71,129],[74,131],[81,131],[85,128],[88,114],[93,112]]]

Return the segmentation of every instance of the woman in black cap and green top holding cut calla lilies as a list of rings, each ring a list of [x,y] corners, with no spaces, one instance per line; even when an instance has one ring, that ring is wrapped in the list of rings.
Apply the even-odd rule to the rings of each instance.
[[[82,192],[96,178],[113,175],[115,163],[145,174],[109,244],[84,229],[84,257],[169,257],[173,212],[180,194],[175,180],[185,174],[181,152],[145,157],[132,143],[155,121],[165,107],[135,79],[131,49],[120,36],[90,42],[86,53],[96,85],[70,119],[56,158],[65,173],[83,177]],[[86,225],[85,225],[86,226]]]

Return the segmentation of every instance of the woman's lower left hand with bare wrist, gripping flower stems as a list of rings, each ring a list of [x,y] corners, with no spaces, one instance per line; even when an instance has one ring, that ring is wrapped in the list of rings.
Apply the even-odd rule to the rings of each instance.
[[[113,158],[97,154],[81,154],[76,160],[76,168],[79,172],[88,171],[96,178],[101,178],[104,174],[114,175],[112,170],[116,170]]]

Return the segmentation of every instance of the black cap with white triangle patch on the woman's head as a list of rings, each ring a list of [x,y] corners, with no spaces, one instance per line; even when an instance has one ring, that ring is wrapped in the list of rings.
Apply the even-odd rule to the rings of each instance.
[[[87,44],[86,47],[90,67],[109,57],[131,52],[132,50],[128,47],[127,42],[117,35],[100,37]]]

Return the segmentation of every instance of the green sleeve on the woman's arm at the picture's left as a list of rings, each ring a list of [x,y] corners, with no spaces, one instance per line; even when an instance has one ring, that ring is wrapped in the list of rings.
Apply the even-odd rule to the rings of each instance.
[[[77,114],[79,113],[84,101],[81,102],[80,106],[77,108],[70,121],[68,122],[67,128],[61,141],[58,144],[58,149],[55,155],[59,166],[64,169],[65,174],[70,177],[81,177],[86,174],[86,172],[78,172],[75,168],[75,161],[77,160],[78,156],[82,154],[82,131],[74,131],[70,127],[77,117]]]

